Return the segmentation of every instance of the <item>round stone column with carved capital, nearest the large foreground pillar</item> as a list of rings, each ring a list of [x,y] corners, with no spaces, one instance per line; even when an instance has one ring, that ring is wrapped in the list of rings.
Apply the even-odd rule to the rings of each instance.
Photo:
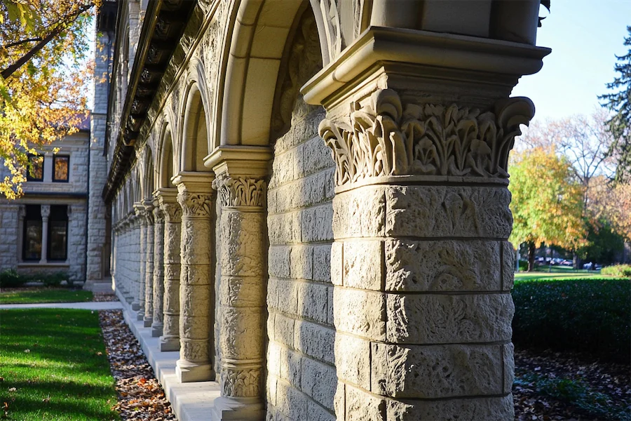
[[[219,147],[206,166],[221,206],[219,382],[215,420],[262,420],[267,230],[265,192],[271,152]]]

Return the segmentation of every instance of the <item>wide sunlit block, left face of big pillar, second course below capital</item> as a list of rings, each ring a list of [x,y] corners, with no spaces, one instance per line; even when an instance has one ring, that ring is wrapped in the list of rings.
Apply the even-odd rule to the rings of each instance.
[[[381,290],[381,241],[344,241],[344,286]]]

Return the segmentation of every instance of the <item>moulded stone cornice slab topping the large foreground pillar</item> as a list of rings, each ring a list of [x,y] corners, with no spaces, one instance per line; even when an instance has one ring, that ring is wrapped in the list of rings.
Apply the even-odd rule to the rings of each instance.
[[[413,29],[369,27],[334,62],[301,88],[305,102],[327,109],[343,101],[337,95],[349,91],[364,78],[367,69],[389,62],[437,69],[437,73],[460,70],[475,77],[507,75],[517,79],[538,72],[550,48],[476,36],[445,34]],[[336,95],[334,95],[336,94]]]

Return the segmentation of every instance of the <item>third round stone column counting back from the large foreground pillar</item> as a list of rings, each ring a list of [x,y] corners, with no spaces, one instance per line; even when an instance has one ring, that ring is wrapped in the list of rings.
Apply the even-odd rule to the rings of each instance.
[[[177,189],[161,189],[158,200],[164,213],[164,311],[161,351],[179,351],[179,244],[182,208]]]

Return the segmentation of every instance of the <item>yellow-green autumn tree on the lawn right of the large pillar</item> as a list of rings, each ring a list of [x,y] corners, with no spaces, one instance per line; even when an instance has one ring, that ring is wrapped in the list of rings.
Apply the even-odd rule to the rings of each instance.
[[[510,163],[513,234],[510,241],[528,246],[528,270],[534,269],[541,244],[576,250],[585,238],[583,187],[571,164],[554,149],[536,147],[514,154]]]

